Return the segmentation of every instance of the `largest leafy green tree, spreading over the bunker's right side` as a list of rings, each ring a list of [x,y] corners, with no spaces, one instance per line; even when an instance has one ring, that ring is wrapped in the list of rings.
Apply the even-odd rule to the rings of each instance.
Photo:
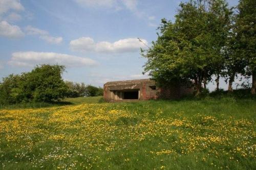
[[[162,19],[157,41],[142,51],[144,71],[160,85],[194,80],[198,95],[202,82],[220,69],[230,11],[225,1],[208,1],[208,8],[204,4],[181,3],[175,22]]]

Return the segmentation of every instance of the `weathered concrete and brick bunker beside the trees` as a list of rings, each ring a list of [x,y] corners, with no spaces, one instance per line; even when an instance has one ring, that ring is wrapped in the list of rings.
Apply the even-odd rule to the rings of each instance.
[[[104,99],[106,101],[127,101],[123,99],[123,92],[138,90],[138,100],[150,99],[178,99],[183,95],[193,93],[193,88],[179,85],[159,88],[150,79],[108,82],[104,84]]]

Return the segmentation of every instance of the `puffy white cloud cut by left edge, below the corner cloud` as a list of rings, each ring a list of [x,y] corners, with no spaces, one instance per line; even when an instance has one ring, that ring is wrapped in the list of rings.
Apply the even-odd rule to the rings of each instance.
[[[0,36],[8,38],[20,38],[24,36],[24,33],[18,26],[10,25],[7,21],[1,21]]]

